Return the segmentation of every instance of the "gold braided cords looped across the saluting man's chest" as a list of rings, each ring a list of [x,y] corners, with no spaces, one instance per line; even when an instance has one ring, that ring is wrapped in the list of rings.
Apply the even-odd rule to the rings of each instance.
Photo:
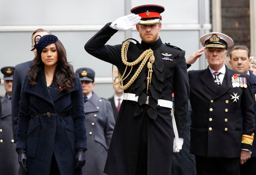
[[[136,78],[139,76],[141,70],[143,69],[143,67],[145,66],[145,64],[147,63],[148,61],[148,58],[149,58],[149,61],[148,61],[148,77],[147,77],[147,81],[148,81],[148,87],[150,87],[150,84],[151,84],[151,77],[152,77],[152,65],[153,63],[155,62],[155,57],[154,57],[154,52],[152,49],[147,49],[145,50],[139,58],[137,58],[135,61],[133,62],[127,62],[127,50],[128,50],[128,46],[129,46],[129,43],[130,41],[127,40],[123,43],[122,45],[122,49],[121,49],[121,58],[122,58],[122,61],[124,63],[124,65],[126,65],[125,67],[125,70],[124,70],[124,73],[123,75],[121,75],[121,73],[119,72],[119,70],[117,70],[117,74],[118,74],[118,82],[114,82],[114,78],[113,78],[113,65],[112,65],[112,81],[113,81],[113,84],[119,84],[119,88],[122,89],[122,90],[125,90],[127,88],[129,88],[132,83],[136,80]],[[142,61],[142,62],[141,62]],[[132,78],[126,83],[126,85],[123,86],[123,81],[130,75],[130,73],[132,72],[132,66],[134,65],[137,65],[137,64],[140,64],[139,68],[137,69],[137,71],[133,74]],[[127,67],[130,66],[131,67],[131,70],[130,72],[125,76],[124,78],[124,74],[127,70]],[[147,92],[148,92],[148,87],[147,87]]]

